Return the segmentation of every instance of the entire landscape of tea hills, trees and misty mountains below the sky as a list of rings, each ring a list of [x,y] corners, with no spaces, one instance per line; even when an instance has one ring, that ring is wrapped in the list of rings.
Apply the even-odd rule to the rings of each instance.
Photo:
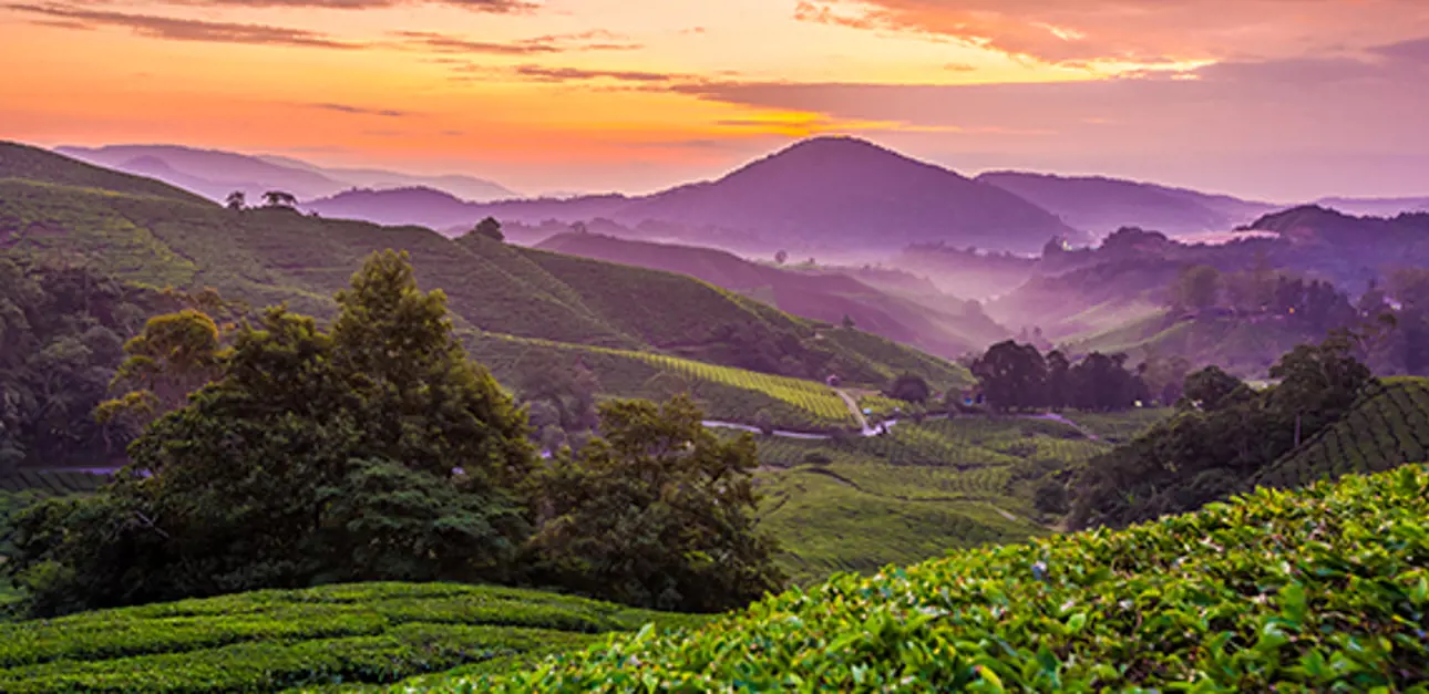
[[[133,173],[0,143],[0,690],[1263,683],[1192,627],[1419,681],[1423,214],[853,139],[506,201],[71,153]]]

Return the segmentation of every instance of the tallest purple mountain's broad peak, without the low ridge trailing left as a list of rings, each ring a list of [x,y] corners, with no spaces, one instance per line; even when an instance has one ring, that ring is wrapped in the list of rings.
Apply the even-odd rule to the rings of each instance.
[[[637,198],[616,220],[723,227],[835,248],[945,240],[1030,253],[1053,236],[1080,236],[1002,188],[849,137],[805,140],[717,181]]]

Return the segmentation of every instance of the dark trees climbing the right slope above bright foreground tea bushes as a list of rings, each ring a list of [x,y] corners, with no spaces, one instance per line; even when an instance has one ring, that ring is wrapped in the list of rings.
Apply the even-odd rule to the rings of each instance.
[[[1336,331],[1272,367],[1278,386],[1253,390],[1218,367],[1190,374],[1177,414],[1093,458],[1072,484],[1069,525],[1122,527],[1199,508],[1345,417],[1376,384],[1356,354],[1375,338]]]

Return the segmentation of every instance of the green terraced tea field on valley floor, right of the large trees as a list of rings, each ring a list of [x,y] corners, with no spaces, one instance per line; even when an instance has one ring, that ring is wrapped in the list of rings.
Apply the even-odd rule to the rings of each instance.
[[[1130,430],[1146,414],[1117,417],[1097,426]],[[867,438],[759,437],[760,523],[800,584],[1016,543],[1057,521],[1036,508],[1037,481],[1110,447],[1075,426],[1020,417],[902,421]]]

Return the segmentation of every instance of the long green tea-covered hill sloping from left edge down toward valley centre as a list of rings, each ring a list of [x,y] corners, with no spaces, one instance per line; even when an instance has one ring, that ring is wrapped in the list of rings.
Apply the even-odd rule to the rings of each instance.
[[[847,331],[827,331],[686,276],[476,236],[450,240],[420,227],[326,220],[289,208],[233,211],[43,150],[7,144],[0,153],[0,163],[16,163],[13,170],[0,169],[0,250],[89,263],[133,283],[214,287],[254,306],[287,303],[326,317],[334,311],[332,294],[362,260],[390,247],[410,254],[423,287],[447,294],[459,330],[470,334],[660,354],[819,381],[837,373],[850,383],[883,384],[906,368],[933,383],[966,377],[909,347],[862,333],[830,337],[826,333]],[[57,184],[64,181],[90,187]],[[480,351],[474,356],[483,358]],[[713,414],[747,421],[755,413]]]

